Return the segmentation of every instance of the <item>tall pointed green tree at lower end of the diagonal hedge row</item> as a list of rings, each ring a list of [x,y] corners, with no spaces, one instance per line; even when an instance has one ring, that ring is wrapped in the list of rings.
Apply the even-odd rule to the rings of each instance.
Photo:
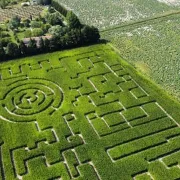
[[[72,11],[68,11],[66,19],[70,28],[75,29],[82,26],[78,17]]]

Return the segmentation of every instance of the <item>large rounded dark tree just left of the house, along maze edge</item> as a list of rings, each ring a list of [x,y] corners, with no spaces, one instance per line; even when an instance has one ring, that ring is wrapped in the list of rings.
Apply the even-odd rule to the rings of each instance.
[[[18,57],[20,55],[20,50],[19,50],[18,45],[12,42],[8,43],[6,52],[7,52],[7,55],[12,58]]]

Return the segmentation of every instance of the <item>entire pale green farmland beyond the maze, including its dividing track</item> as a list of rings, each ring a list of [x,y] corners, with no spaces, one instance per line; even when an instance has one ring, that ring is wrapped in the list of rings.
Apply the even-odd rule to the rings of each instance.
[[[57,0],[156,84],[180,100],[179,0]]]

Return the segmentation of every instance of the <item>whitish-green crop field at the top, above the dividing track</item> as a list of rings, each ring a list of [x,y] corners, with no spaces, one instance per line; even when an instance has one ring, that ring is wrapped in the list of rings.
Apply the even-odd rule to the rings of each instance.
[[[100,29],[127,22],[138,21],[178,9],[178,2],[171,6],[164,0],[56,0],[72,9],[86,24]]]

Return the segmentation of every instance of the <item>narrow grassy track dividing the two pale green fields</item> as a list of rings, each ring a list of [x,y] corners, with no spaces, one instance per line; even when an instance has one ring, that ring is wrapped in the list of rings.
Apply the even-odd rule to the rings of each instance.
[[[173,16],[173,15],[178,15],[178,14],[180,14],[180,11],[173,11],[173,12],[168,12],[168,13],[166,12],[164,14],[161,14],[161,15],[153,17],[153,18],[147,18],[147,19],[144,19],[144,20],[124,24],[124,25],[121,25],[121,26],[115,26],[115,27],[112,27],[112,28],[107,28],[105,30],[100,30],[100,32],[104,33],[104,32],[113,31],[113,30],[116,30],[116,29],[124,28],[124,27],[134,26],[134,25],[138,25],[138,24],[144,24],[144,23],[147,23],[147,22],[153,22],[154,20],[166,20],[167,17]]]

